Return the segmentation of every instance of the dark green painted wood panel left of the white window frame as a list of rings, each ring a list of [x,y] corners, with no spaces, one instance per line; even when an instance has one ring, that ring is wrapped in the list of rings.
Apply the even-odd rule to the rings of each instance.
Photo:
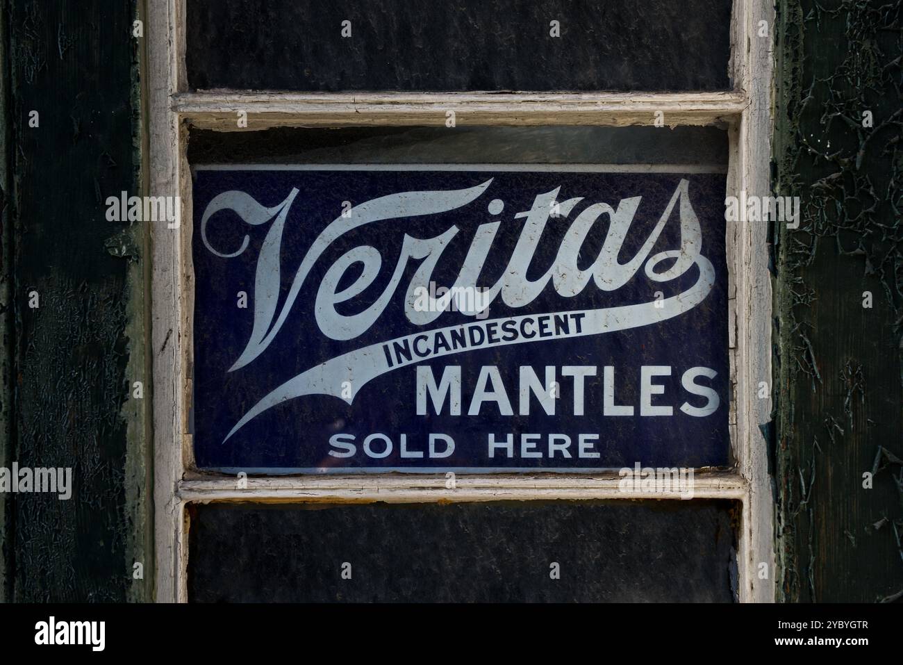
[[[141,315],[131,281],[140,243],[113,256],[107,242],[143,231],[107,221],[105,204],[109,195],[136,193],[138,182],[135,2],[14,2],[5,11],[14,170],[10,458],[70,466],[74,486],[70,501],[7,497],[13,598],[141,599],[146,582],[133,578],[132,562],[150,556],[147,479],[132,459],[143,454],[141,437],[122,415],[131,381],[144,379],[126,371],[132,354],[144,352],[126,335]],[[32,110],[37,127],[29,126]]]

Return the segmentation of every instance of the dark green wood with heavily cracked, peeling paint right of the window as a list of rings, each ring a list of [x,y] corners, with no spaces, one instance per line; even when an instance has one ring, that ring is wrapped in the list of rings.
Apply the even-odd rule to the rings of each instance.
[[[903,9],[822,5],[777,7],[779,598],[874,602],[903,592]]]

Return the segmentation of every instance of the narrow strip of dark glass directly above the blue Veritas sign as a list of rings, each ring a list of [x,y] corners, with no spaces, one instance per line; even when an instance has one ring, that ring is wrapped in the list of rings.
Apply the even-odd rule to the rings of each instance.
[[[191,128],[191,164],[693,164],[727,172],[714,126]]]

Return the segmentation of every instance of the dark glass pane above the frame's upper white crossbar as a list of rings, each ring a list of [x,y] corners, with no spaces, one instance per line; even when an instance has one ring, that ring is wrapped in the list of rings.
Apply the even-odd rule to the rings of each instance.
[[[187,10],[191,89],[731,86],[731,0],[187,0]]]

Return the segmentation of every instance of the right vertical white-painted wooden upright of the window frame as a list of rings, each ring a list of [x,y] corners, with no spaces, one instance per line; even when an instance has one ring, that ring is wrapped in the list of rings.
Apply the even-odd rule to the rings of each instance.
[[[770,194],[771,81],[773,74],[774,9],[768,0],[737,0],[741,17],[740,81],[749,103],[740,117],[737,141],[737,194]],[[761,22],[768,34],[760,36]],[[737,427],[740,442],[740,473],[749,483],[743,502],[740,529],[740,599],[774,602],[774,501],[768,476],[768,450],[759,426],[768,423],[771,373],[771,275],[768,271],[768,223],[744,221],[733,224],[737,316]],[[759,382],[768,384],[768,398],[759,398]],[[767,578],[759,576],[760,565]]]

